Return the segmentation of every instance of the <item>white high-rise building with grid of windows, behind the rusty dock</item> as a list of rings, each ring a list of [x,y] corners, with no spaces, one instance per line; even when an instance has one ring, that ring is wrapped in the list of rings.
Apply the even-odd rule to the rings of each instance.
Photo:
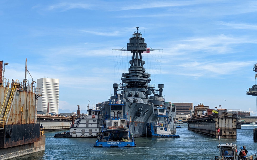
[[[37,88],[42,88],[42,96],[38,98],[38,111],[47,111],[49,102],[49,112],[59,113],[59,79],[40,78],[36,80]]]

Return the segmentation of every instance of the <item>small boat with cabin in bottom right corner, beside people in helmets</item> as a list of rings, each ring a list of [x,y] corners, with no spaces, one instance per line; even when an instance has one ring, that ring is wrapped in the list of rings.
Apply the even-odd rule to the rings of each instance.
[[[241,158],[239,154],[240,149],[236,149],[236,145],[232,143],[220,144],[217,146],[219,148],[219,156],[215,156],[215,158],[210,160],[244,160]],[[256,158],[256,154],[247,156],[246,159],[254,160]]]

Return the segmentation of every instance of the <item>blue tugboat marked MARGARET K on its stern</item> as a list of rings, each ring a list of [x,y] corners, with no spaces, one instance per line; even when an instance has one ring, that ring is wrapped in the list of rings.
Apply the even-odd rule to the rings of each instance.
[[[111,114],[105,114],[102,133],[97,137],[94,147],[136,147],[133,134],[130,133],[128,114],[123,114],[125,105],[120,99],[123,94],[116,95],[116,99],[109,100]]]

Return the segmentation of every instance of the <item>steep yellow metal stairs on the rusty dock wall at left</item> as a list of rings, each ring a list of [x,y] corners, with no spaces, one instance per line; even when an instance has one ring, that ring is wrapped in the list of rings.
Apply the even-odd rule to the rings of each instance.
[[[8,122],[10,111],[12,109],[13,99],[16,95],[17,88],[19,86],[19,80],[12,80],[11,82],[11,90],[10,90],[10,84],[8,85],[8,90],[6,92],[4,103],[2,105],[1,111],[0,111],[0,129],[4,129],[4,125]],[[9,93],[9,94],[8,94]],[[8,98],[7,98],[7,95]]]

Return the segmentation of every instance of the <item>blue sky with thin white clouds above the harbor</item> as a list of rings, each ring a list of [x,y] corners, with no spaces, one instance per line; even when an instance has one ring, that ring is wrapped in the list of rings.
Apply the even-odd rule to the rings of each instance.
[[[59,112],[108,100],[131,53],[118,52],[139,27],[163,51],[144,55],[165,101],[251,111],[256,99],[256,1],[0,1],[5,77],[59,78]],[[224,101],[224,99],[226,101]]]

